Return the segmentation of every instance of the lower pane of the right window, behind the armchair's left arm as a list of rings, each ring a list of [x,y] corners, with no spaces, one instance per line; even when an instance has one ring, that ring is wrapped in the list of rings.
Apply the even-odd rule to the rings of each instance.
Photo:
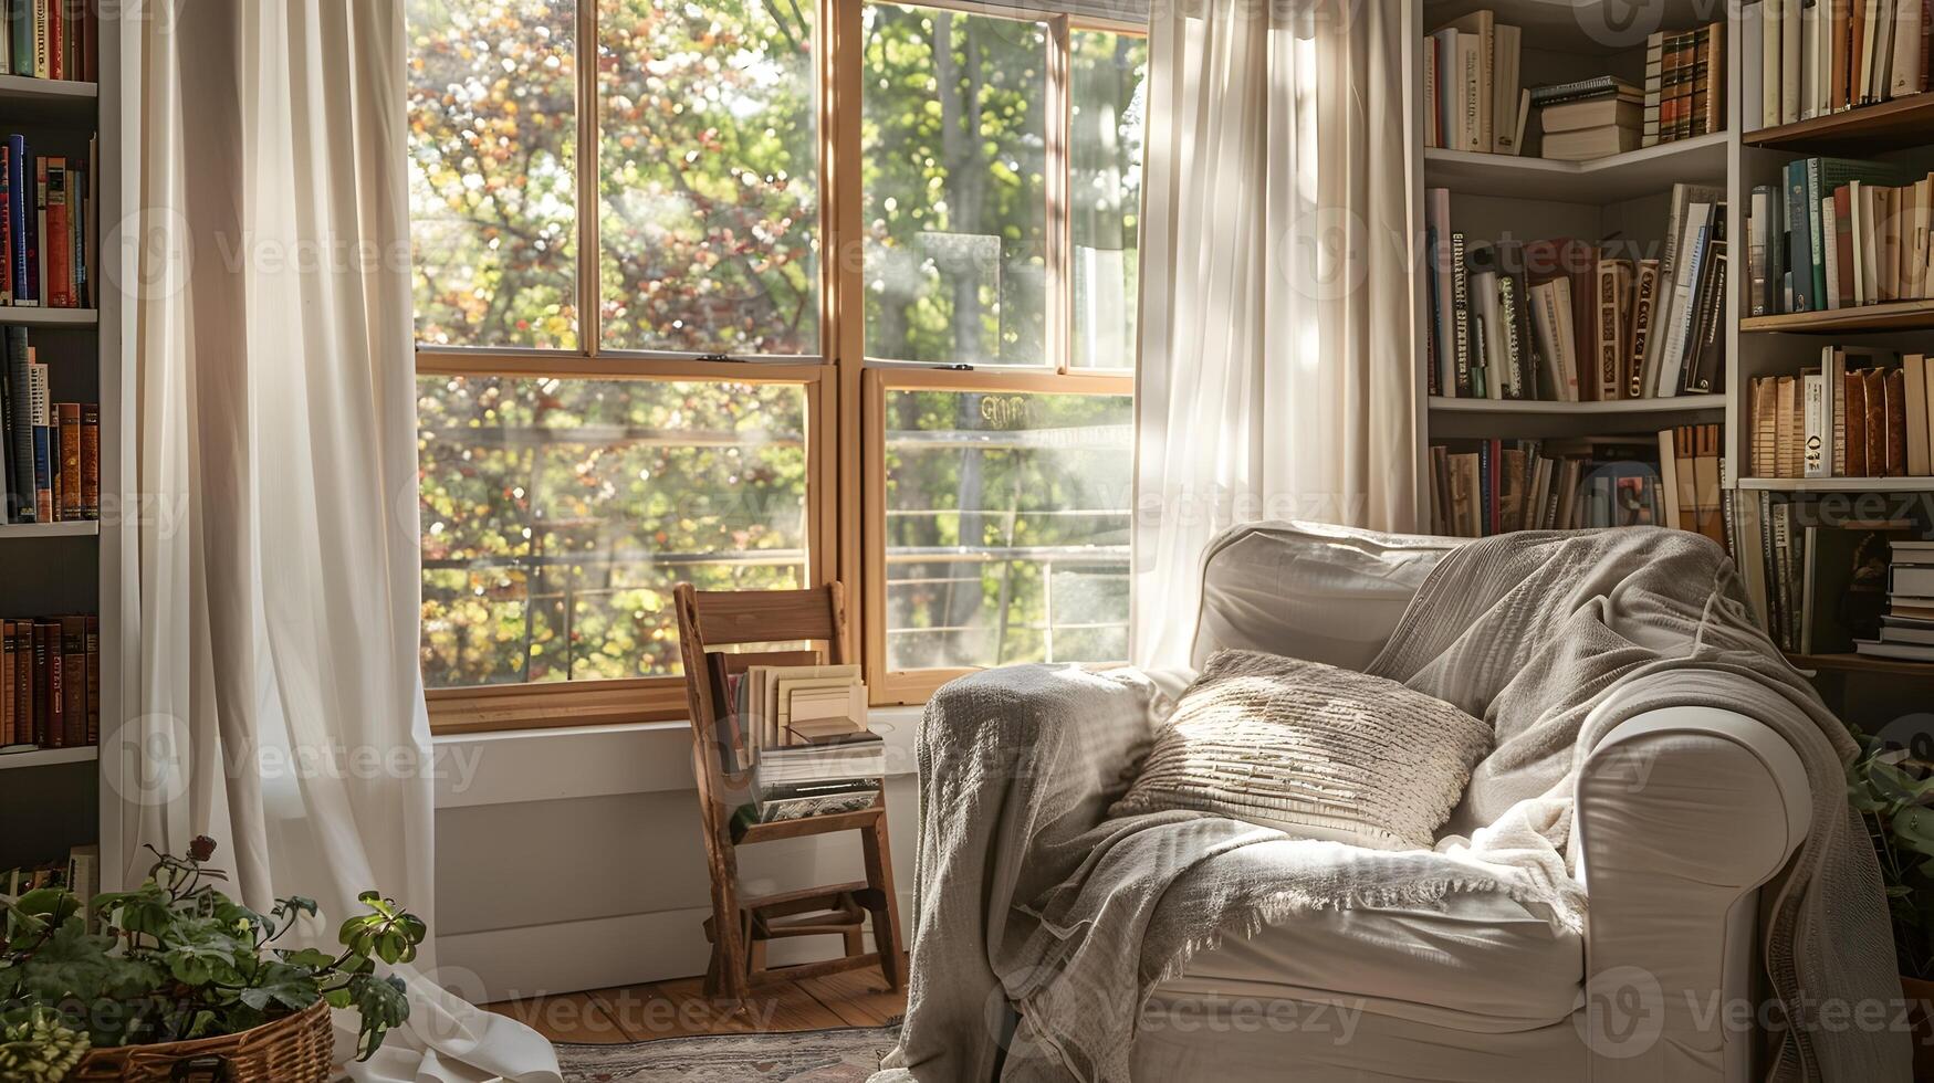
[[[890,669],[1128,658],[1131,402],[886,395]]]

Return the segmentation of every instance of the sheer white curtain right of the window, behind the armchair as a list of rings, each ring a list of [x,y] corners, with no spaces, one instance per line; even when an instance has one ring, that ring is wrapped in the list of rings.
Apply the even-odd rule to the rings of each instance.
[[[1135,389],[1141,665],[1187,665],[1201,551],[1224,526],[1418,528],[1406,8],[1155,8]]]

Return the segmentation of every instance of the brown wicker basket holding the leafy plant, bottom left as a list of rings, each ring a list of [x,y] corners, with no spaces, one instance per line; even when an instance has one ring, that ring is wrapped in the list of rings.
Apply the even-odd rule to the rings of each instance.
[[[174,1083],[226,1079],[230,1083],[329,1083],[335,1035],[329,1004],[263,1023],[240,1035],[89,1050],[70,1083]]]

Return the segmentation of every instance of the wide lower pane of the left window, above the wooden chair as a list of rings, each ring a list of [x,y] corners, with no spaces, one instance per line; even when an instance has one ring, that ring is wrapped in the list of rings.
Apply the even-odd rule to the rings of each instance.
[[[801,586],[797,385],[424,377],[424,681],[679,673],[671,586]]]

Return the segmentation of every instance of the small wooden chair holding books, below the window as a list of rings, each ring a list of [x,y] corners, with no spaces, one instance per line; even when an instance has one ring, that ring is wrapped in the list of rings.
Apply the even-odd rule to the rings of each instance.
[[[685,661],[685,690],[692,708],[692,770],[698,777],[700,822],[706,859],[712,866],[712,917],[706,938],[712,965],[706,992],[745,1000],[768,981],[793,981],[863,967],[880,967],[888,988],[899,988],[899,903],[894,895],[894,855],[886,839],[886,795],[872,808],[832,816],[806,816],[752,824],[733,837],[733,810],[752,799],[750,772],[727,774],[719,760],[718,727],[723,714],[719,688],[712,683],[706,656],[719,646],[822,642],[824,661],[847,661],[845,592],[837,582],[812,590],[694,590],[681,582],[673,592],[679,609],[679,652]],[[725,654],[731,673],[750,665],[801,665],[818,661],[803,652]],[[832,884],[803,892],[741,897],[739,847],[859,832],[866,880]],[[861,936],[872,915],[874,950],[864,951]],[[818,963],[766,967],[766,946],[781,936],[826,936],[843,940],[843,955]]]

